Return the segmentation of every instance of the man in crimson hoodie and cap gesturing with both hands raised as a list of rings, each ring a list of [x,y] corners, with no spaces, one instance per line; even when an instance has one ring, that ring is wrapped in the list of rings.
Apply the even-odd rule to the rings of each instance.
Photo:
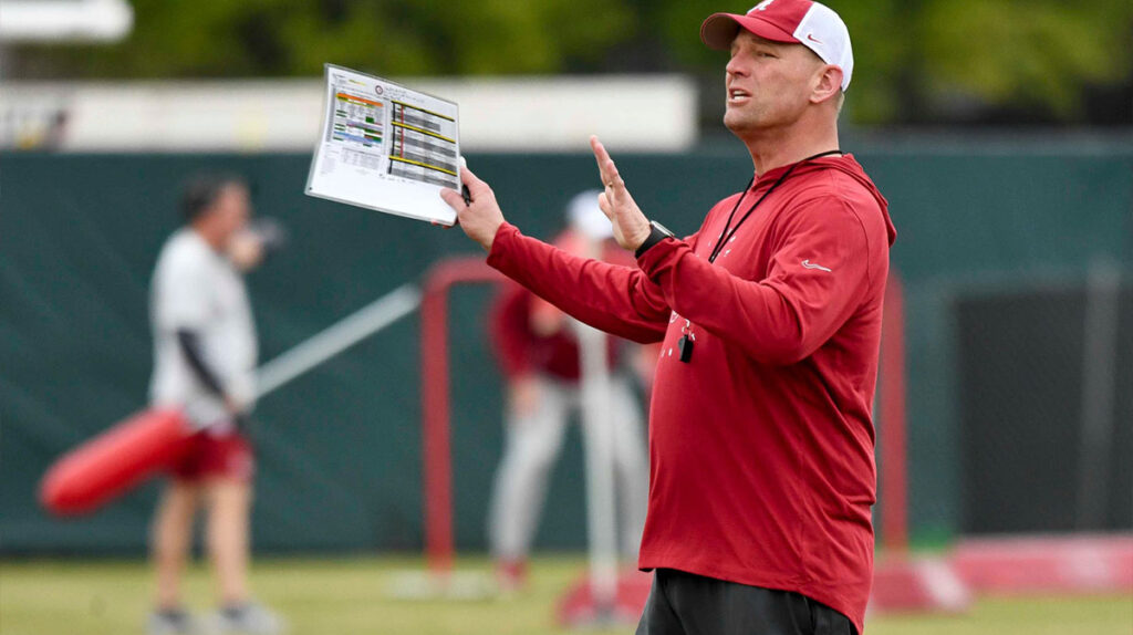
[[[862,633],[896,232],[838,149],[850,35],[818,2],[765,0],[700,36],[730,51],[724,123],[755,173],[695,234],[650,222],[597,138],[599,205],[636,268],[522,235],[467,170],[469,203],[442,197],[493,267],[597,328],[662,342],[638,561],[656,576],[638,633]]]

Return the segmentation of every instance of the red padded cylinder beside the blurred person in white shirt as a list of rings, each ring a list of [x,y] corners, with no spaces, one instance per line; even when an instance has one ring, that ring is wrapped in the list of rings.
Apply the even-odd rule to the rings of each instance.
[[[138,412],[57,461],[40,484],[40,503],[60,516],[94,512],[172,465],[193,436],[177,410]]]

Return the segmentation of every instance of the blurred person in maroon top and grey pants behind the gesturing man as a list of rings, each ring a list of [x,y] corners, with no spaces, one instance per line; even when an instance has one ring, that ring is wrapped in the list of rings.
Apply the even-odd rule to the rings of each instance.
[[[553,240],[571,254],[632,263],[613,242],[597,190],[578,194],[566,208],[568,226]],[[492,343],[508,381],[504,453],[488,513],[488,539],[501,590],[521,589],[527,558],[546,499],[551,470],[562,449],[566,418],[581,412],[578,324],[522,286],[504,283],[489,318]],[[648,463],[644,421],[632,371],[620,369],[624,346],[610,340],[613,456],[619,486],[620,548],[633,558],[645,524]],[[646,353],[633,346],[631,355]],[[653,349],[656,359],[656,349]],[[649,366],[649,364],[638,364]],[[648,386],[648,377],[642,379]]]

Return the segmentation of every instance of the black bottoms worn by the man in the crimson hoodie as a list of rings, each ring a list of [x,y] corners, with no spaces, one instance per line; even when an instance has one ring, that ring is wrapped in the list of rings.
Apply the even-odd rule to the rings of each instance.
[[[857,635],[850,618],[791,591],[657,569],[637,635]]]

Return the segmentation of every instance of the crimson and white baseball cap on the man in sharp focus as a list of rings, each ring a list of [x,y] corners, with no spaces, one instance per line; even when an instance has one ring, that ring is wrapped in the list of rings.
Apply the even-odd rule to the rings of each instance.
[[[824,62],[841,68],[842,91],[850,87],[853,74],[850,31],[826,5],[811,0],[764,0],[743,16],[713,14],[700,25],[700,40],[709,49],[726,51],[740,27],[772,42],[802,44]]]

